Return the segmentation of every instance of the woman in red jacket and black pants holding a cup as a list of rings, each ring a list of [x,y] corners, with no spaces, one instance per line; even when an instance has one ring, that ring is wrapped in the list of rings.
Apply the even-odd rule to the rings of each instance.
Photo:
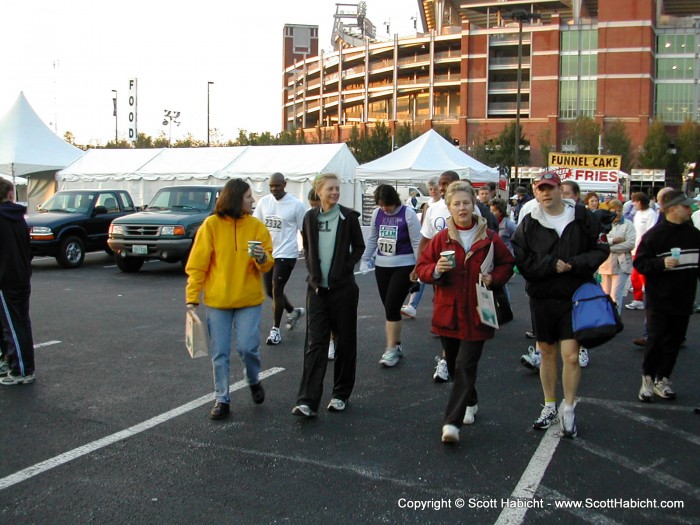
[[[486,220],[474,215],[476,198],[467,181],[447,188],[450,211],[447,227],[423,250],[416,265],[424,283],[435,284],[432,331],[442,338],[447,368],[454,385],[442,427],[443,443],[459,441],[459,428],[474,422],[477,408],[476,371],[484,342],[494,329],[481,323],[477,313],[479,277],[489,288],[501,288],[513,275],[513,256]],[[482,265],[493,245],[493,268]],[[455,252],[455,267],[441,252]]]

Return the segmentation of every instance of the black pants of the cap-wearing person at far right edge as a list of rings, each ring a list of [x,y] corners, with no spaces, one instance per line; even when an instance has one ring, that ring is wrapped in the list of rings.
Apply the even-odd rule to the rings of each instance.
[[[688,315],[668,315],[647,308],[647,344],[642,364],[645,376],[652,379],[671,377],[689,320]]]

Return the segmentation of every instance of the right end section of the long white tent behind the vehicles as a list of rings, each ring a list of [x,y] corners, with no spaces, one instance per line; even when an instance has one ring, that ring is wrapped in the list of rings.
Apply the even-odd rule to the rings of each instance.
[[[270,175],[279,172],[287,179],[287,192],[307,203],[314,178],[334,173],[340,178],[340,203],[352,207],[356,168],[357,160],[345,143],[257,146],[248,148],[218,175],[247,180],[258,199],[269,193]]]

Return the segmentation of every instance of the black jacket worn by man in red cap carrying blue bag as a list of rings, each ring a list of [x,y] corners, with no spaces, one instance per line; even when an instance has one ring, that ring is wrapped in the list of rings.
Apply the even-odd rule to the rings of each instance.
[[[571,299],[576,289],[593,281],[593,274],[608,258],[610,247],[600,234],[600,223],[582,204],[561,236],[538,220],[537,207],[525,217],[513,235],[515,264],[527,281],[525,290],[534,299]],[[569,263],[570,272],[557,273],[557,260]]]

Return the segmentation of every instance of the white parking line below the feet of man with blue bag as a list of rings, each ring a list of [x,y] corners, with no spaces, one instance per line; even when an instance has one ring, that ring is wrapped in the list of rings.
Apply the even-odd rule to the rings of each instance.
[[[535,497],[537,488],[549,466],[549,462],[552,460],[552,456],[554,456],[554,451],[557,449],[560,439],[561,428],[553,423],[545,433],[542,441],[540,441],[532,458],[530,458],[530,463],[527,464],[525,472],[520,476],[520,481],[518,481],[515,490],[510,495],[511,499],[531,500]],[[525,519],[525,513],[527,513],[525,505],[517,508],[507,506],[498,516],[496,525],[520,524]]]

